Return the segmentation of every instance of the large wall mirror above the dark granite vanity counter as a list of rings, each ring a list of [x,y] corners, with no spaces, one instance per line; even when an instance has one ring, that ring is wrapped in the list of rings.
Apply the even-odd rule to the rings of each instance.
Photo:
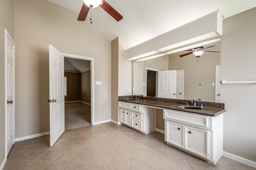
[[[177,70],[177,75],[183,75],[183,82],[181,82],[183,87],[179,84],[179,80],[176,85],[177,87],[179,86],[178,90],[180,90],[179,88],[182,88],[182,92],[179,92],[176,89],[178,95],[176,94],[175,98],[184,100],[201,99],[206,102],[219,102],[217,99],[220,98],[220,89],[218,85],[220,83],[218,79],[220,75],[220,53],[216,52],[220,52],[220,41],[204,45],[204,51],[205,52],[200,57],[196,57],[193,53],[180,57],[180,55],[190,52],[181,51],[150,60],[140,62],[134,61],[133,95],[152,95],[147,95],[146,92],[148,84],[147,75],[154,75],[154,71]],[[156,78],[156,81],[157,79],[158,78]],[[157,88],[158,85],[156,83],[156,89]],[[156,97],[158,97],[157,91],[158,90],[156,90]],[[180,93],[182,94],[179,95]]]

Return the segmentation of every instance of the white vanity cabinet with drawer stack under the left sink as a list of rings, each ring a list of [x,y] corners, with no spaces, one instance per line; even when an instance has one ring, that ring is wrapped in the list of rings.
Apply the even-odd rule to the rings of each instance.
[[[119,102],[120,122],[142,133],[156,130],[155,108],[129,102]]]

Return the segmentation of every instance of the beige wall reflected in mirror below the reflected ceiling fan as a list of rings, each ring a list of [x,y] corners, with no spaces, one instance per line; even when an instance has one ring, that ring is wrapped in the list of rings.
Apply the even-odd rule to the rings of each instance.
[[[205,52],[200,58],[194,54],[180,57],[182,54],[184,51],[169,55],[169,70],[184,69],[184,99],[215,102],[212,83],[215,83],[215,66],[220,65],[220,53]]]

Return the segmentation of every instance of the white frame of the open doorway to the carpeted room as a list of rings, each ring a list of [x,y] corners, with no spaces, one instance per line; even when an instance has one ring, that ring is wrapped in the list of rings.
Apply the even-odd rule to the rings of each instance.
[[[94,125],[94,58],[62,53],[64,57],[91,61],[91,124]]]

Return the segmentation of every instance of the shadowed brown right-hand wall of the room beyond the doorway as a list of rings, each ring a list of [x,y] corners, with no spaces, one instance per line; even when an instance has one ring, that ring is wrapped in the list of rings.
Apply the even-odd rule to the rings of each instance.
[[[81,100],[91,103],[91,70],[81,73]]]

